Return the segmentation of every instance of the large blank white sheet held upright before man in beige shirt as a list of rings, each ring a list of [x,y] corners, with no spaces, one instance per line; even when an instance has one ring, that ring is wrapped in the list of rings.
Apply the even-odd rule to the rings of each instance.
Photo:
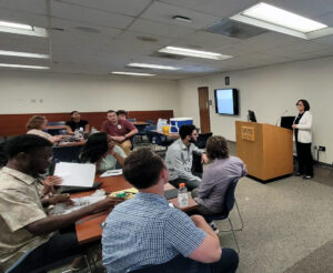
[[[54,175],[62,178],[61,185],[91,188],[94,180],[94,164],[60,162],[56,164]]]

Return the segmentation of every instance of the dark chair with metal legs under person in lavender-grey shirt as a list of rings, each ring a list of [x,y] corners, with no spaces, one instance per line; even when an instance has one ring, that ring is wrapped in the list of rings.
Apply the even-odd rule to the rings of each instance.
[[[224,212],[223,213],[218,213],[218,214],[214,214],[214,215],[204,216],[204,219],[208,223],[211,223],[213,221],[228,219],[231,229],[225,231],[225,232],[229,232],[229,231],[232,232],[234,242],[236,244],[238,252],[240,253],[239,242],[238,242],[238,239],[236,239],[235,233],[234,233],[235,231],[242,231],[243,230],[243,219],[242,219],[238,202],[236,202],[235,196],[234,196],[234,192],[235,192],[235,188],[238,185],[238,182],[239,182],[239,179],[234,179],[230,183],[230,185],[229,185],[229,188],[225,192],[225,203],[224,203],[225,204],[225,210],[224,210]],[[238,213],[239,213],[240,220],[241,220],[241,228],[236,229],[236,230],[233,228],[233,224],[232,224],[231,219],[230,219],[230,212],[233,209],[234,204],[238,209]]]

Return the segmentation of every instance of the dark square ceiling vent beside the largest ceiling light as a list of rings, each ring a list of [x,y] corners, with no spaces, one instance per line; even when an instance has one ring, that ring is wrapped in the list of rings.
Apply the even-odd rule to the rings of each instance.
[[[205,31],[243,40],[268,32],[265,29],[236,22],[230,19],[222,19],[220,22],[205,29]]]

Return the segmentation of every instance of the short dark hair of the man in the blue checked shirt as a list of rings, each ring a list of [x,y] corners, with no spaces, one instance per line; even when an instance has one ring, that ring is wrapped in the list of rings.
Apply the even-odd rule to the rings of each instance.
[[[159,182],[161,171],[165,169],[162,159],[150,149],[131,152],[123,164],[124,178],[137,189],[147,189]]]

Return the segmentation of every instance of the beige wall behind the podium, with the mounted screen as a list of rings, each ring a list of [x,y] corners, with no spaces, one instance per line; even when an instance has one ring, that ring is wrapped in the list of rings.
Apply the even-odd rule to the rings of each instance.
[[[230,87],[240,90],[240,115],[226,117],[215,113],[214,89],[225,88],[224,77],[230,77]],[[295,102],[306,99],[313,114],[313,145],[325,145],[320,161],[333,162],[333,58],[316,59],[265,67],[260,69],[215,74],[211,77],[182,80],[180,115],[193,117],[199,124],[198,87],[209,87],[211,127],[214,134],[235,140],[235,120],[246,120],[248,110],[254,110],[262,123],[275,124],[279,117],[297,113]]]

